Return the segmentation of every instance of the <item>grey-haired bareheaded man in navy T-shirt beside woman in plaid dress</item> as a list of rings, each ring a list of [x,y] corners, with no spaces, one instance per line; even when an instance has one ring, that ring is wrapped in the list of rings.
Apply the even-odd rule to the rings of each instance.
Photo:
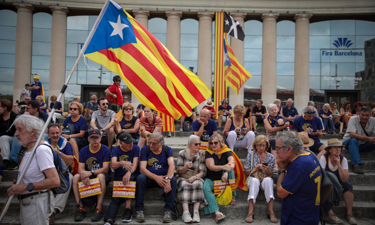
[[[144,222],[145,188],[158,187],[166,193],[163,223],[172,222],[172,210],[176,195],[176,179],[172,148],[163,145],[164,138],[160,133],[151,133],[148,144],[141,149],[139,157],[140,170],[135,186],[136,222]]]

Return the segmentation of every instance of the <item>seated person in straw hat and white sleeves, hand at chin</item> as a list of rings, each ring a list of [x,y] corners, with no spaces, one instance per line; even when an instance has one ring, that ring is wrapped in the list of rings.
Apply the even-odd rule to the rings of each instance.
[[[357,224],[356,218],[354,218],[352,213],[353,208],[353,200],[354,200],[354,191],[352,184],[348,181],[349,180],[349,168],[348,168],[348,160],[342,156],[342,147],[345,145],[341,145],[339,139],[333,138],[328,140],[328,146],[324,148],[326,150],[326,154],[324,154],[320,158],[320,165],[322,169],[328,172],[332,172],[338,178],[341,186],[342,186],[342,193],[344,196],[344,202],[347,207],[347,218],[350,224]],[[330,210],[324,220],[326,223],[336,223],[340,224],[343,223],[339,217],[337,217],[332,210]]]

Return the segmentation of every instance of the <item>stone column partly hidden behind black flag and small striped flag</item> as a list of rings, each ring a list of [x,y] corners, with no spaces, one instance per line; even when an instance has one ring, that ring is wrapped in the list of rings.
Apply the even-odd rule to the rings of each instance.
[[[231,16],[233,17],[234,20],[237,20],[241,27],[244,29],[244,23],[245,23],[245,17],[246,13],[243,12],[233,12],[231,13]],[[234,52],[234,55],[236,55],[237,61],[243,65],[243,56],[244,56],[244,42],[242,40],[239,40],[235,37],[231,37],[231,48]],[[238,92],[238,96],[234,90],[229,87],[229,105],[233,108],[237,104],[242,104],[243,105],[243,86],[240,88]]]

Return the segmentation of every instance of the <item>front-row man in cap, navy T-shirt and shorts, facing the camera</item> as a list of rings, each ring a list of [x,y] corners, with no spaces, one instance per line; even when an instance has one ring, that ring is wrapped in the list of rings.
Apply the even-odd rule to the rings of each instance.
[[[100,130],[90,130],[88,139],[90,145],[81,149],[80,158],[78,159],[78,174],[73,177],[73,192],[75,201],[77,202],[77,214],[74,217],[75,221],[83,220],[86,215],[86,209],[83,204],[92,206],[95,203],[96,209],[91,216],[91,220],[100,220],[102,217],[102,204],[105,189],[112,178],[110,168],[111,151],[107,146],[100,144],[102,139]],[[102,193],[82,198],[82,201],[80,201],[78,182],[82,181],[85,186],[89,186],[90,179],[94,178],[99,178]]]

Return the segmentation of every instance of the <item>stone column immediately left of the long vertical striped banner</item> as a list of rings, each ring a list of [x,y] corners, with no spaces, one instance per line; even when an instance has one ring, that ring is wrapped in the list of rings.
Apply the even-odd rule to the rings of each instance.
[[[212,18],[214,12],[198,12],[198,77],[205,85],[212,89]],[[211,97],[209,98],[211,99]],[[205,102],[205,101],[204,101]],[[196,108],[198,113],[204,106],[204,102]]]

